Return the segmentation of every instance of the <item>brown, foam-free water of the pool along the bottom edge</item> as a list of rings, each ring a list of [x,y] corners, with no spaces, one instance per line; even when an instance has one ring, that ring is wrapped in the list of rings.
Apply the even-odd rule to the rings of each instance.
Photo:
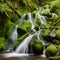
[[[29,57],[9,57],[9,58],[0,58],[0,60],[48,60],[47,58],[29,56]]]

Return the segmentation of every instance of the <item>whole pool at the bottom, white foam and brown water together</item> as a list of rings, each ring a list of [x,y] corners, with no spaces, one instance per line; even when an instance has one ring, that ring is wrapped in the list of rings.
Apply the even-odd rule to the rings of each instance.
[[[46,57],[40,57],[28,54],[7,53],[7,54],[0,54],[0,60],[48,60],[48,59]]]

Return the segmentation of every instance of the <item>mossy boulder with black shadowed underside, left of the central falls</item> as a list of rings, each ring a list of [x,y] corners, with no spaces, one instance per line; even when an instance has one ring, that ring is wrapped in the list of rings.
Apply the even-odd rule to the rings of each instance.
[[[23,21],[23,22],[21,22],[19,25],[18,25],[18,33],[20,34],[20,35],[23,35],[23,34],[25,34],[26,32],[30,32],[30,30],[31,30],[31,23],[30,22],[28,22],[28,21]]]

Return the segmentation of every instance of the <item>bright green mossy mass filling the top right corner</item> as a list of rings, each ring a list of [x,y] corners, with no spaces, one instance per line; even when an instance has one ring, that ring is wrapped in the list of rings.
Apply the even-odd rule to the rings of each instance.
[[[58,16],[60,17],[60,0],[55,0],[51,5],[51,10],[58,14]]]

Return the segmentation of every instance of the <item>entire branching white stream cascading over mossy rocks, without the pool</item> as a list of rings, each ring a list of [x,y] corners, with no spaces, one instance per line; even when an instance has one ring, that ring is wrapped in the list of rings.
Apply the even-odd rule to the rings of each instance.
[[[25,19],[25,17],[26,17],[26,14],[24,14],[22,17],[21,17],[21,19],[18,21],[18,23],[20,22],[23,22],[24,20],[26,20]],[[41,21],[41,24],[47,24],[47,21],[46,21],[46,19],[45,19],[45,17],[44,16],[42,16],[41,14],[39,14],[38,12],[36,13],[36,15],[35,15],[35,19],[36,18],[39,18],[40,19],[40,21]],[[34,19],[34,20],[35,20]],[[31,15],[31,13],[28,13],[27,14],[27,20],[26,21],[29,21],[29,22],[31,22],[31,24],[32,24],[32,27],[31,27],[31,29],[33,29],[33,31],[35,30],[34,29],[34,26],[35,26],[35,24],[34,24],[34,22],[33,22],[33,18],[32,18],[32,15]],[[15,28],[14,28],[14,31],[13,31],[13,33],[11,34],[11,36],[10,36],[10,39],[12,40],[12,42],[14,43],[16,40],[17,40],[17,37],[18,37],[18,33],[17,33],[17,25],[15,26]],[[41,31],[42,31],[42,29],[40,29],[40,27],[39,27],[39,30],[38,31],[34,31],[35,33],[34,34],[29,34],[23,41],[22,41],[22,43],[17,47],[17,49],[15,50],[15,52],[13,53],[13,55],[15,54],[15,53],[20,53],[20,54],[28,54],[28,45],[29,45],[29,43],[30,43],[30,41],[32,40],[32,37],[33,36],[35,36],[35,35],[37,35],[37,38],[39,39],[39,40],[41,40],[41,38],[39,37],[40,35],[41,35]],[[43,46],[45,45],[45,43],[44,43],[44,41],[43,40],[41,40],[41,42],[42,42],[42,44],[43,44]],[[42,57],[46,57],[45,56],[45,47],[44,47],[44,51],[43,51],[43,55],[41,55]]]

